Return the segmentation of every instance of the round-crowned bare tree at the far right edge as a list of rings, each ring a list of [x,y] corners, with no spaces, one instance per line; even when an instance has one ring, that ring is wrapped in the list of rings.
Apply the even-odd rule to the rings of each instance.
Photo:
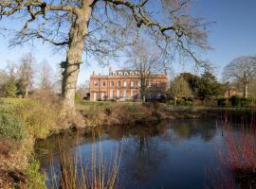
[[[247,97],[248,84],[256,78],[256,57],[239,57],[232,60],[224,68],[223,77],[241,83],[244,86],[244,97]]]

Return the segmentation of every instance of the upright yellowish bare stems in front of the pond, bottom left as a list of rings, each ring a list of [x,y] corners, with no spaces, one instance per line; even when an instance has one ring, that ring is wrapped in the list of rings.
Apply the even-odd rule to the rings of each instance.
[[[98,137],[99,141],[96,141]],[[60,144],[60,166],[55,167],[51,158],[51,181],[49,188],[56,189],[114,189],[118,188],[119,163],[122,146],[119,147],[110,158],[104,159],[101,146],[101,131],[93,132],[93,144],[90,159],[82,156],[82,153],[72,153],[72,150],[64,150]],[[87,162],[88,163],[85,163]],[[56,174],[57,169],[61,174]]]

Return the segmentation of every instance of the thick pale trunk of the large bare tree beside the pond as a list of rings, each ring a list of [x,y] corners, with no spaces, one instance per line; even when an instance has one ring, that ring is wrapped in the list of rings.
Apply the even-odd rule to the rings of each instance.
[[[74,116],[75,111],[75,94],[77,79],[82,63],[82,50],[84,38],[88,33],[88,22],[92,8],[92,0],[84,0],[82,9],[76,12],[76,18],[69,31],[69,44],[66,52],[66,61],[63,64],[63,86],[62,94],[64,96],[64,113]]]

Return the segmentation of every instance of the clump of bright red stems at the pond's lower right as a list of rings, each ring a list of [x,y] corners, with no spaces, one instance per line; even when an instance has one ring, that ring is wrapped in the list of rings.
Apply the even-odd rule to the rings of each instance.
[[[224,150],[217,149],[220,165],[211,171],[212,188],[256,187],[256,126],[250,121],[236,128],[227,116],[224,120]],[[243,117],[242,117],[243,119]],[[239,132],[234,131],[238,129]]]

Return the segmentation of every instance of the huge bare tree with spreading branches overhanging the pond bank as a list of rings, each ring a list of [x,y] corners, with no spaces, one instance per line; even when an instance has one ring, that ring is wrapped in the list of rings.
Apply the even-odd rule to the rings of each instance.
[[[1,0],[0,18],[24,22],[12,45],[41,39],[64,47],[64,111],[74,114],[82,51],[107,62],[145,31],[166,56],[180,51],[197,60],[192,50],[208,47],[208,23],[193,18],[189,5],[190,0]]]

